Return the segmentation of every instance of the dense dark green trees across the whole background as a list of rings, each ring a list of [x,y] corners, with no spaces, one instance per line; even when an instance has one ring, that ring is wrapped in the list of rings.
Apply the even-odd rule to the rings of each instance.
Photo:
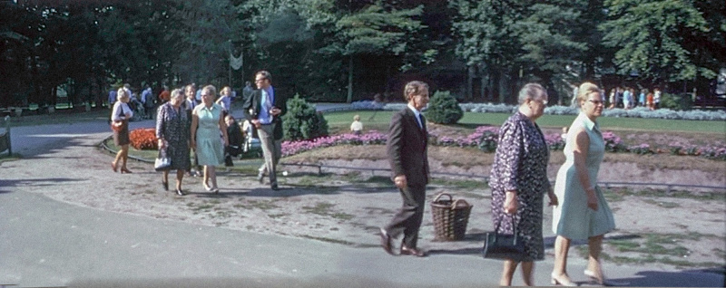
[[[230,85],[260,69],[286,95],[400,101],[423,80],[459,101],[514,102],[540,82],[673,92],[726,67],[726,7],[697,0],[142,0],[0,4],[0,107],[101,106],[122,83]],[[241,57],[240,70],[231,68]],[[59,91],[67,94],[59,94]],[[676,91],[680,90],[680,91]],[[67,98],[62,98],[66,97]],[[60,99],[60,100],[59,100]]]

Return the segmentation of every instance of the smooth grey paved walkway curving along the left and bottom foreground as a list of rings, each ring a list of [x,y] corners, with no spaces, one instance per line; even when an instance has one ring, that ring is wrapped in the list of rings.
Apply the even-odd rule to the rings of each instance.
[[[61,194],[114,194],[116,185],[124,185],[110,180],[110,157],[92,147],[108,134],[103,122],[14,130],[15,151],[24,158],[0,164],[0,284],[481,287],[498,282],[501,263],[481,259],[476,251],[393,257],[379,247],[263,235],[55,200]],[[585,283],[584,264],[571,256],[570,273],[579,283]],[[551,269],[549,257],[538,263],[535,283],[548,284]],[[700,271],[607,263],[605,270],[631,286],[724,284],[723,275]],[[515,284],[521,284],[518,275]]]

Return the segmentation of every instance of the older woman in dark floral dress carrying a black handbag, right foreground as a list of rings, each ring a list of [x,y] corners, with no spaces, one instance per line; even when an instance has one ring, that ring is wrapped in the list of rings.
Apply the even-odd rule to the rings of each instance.
[[[497,233],[520,235],[525,242],[524,259],[506,259],[499,285],[512,284],[519,261],[525,285],[533,285],[535,260],[544,259],[542,211],[544,193],[550,205],[557,197],[547,179],[549,149],[539,126],[535,124],[547,106],[547,92],[536,83],[519,91],[519,108],[502,124],[492,165],[489,187],[492,188],[492,221]]]

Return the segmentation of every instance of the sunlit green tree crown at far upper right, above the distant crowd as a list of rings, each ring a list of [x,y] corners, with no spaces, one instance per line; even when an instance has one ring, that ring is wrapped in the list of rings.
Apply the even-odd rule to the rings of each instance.
[[[605,7],[608,20],[600,29],[604,43],[617,49],[613,61],[618,72],[637,72],[656,83],[715,75],[687,49],[688,39],[710,30],[693,1],[606,0]]]

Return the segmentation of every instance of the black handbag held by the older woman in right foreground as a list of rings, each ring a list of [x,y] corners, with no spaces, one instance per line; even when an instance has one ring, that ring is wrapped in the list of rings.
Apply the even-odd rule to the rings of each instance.
[[[522,236],[516,234],[515,217],[512,216],[512,227],[514,235],[499,234],[499,226],[502,221],[496,224],[494,232],[486,233],[482,255],[489,259],[514,260],[521,262],[526,257],[525,242]]]

